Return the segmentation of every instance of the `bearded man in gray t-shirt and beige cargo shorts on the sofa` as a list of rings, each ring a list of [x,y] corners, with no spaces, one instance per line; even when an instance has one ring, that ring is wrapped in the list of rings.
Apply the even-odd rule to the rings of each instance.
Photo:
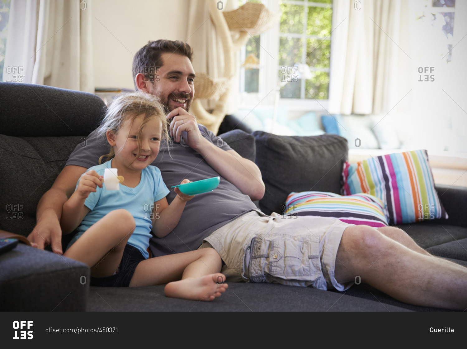
[[[214,247],[234,280],[312,285],[345,290],[355,278],[403,302],[464,310],[467,268],[431,256],[394,227],[354,226],[339,220],[298,217],[282,220],[265,215],[252,200],[262,198],[261,172],[227,144],[198,125],[189,114],[195,73],[190,46],[158,40],[139,50],[133,63],[138,90],[158,96],[167,107],[173,146],[161,144],[153,163],[170,187],[220,176],[219,187],[197,195],[186,205],[177,227],[164,238],[152,238],[154,255]],[[220,144],[221,146],[218,146]],[[63,203],[78,178],[106,154],[106,145],[91,134],[77,146],[52,188],[37,208],[37,225],[28,239],[44,242],[61,254],[59,220]],[[97,178],[96,178],[97,180]],[[168,195],[168,201],[174,192]]]

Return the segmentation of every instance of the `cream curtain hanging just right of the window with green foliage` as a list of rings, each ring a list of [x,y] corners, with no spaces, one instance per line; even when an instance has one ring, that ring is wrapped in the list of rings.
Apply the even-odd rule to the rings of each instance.
[[[386,114],[410,91],[409,5],[333,1],[331,114]]]

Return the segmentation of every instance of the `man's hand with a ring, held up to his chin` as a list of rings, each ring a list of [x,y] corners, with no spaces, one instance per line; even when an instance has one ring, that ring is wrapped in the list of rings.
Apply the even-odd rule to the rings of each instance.
[[[173,135],[175,142],[179,143],[183,137],[186,144],[197,151],[201,144],[205,142],[199,131],[196,118],[184,108],[178,107],[172,110],[167,115],[167,120],[170,120],[169,133]]]

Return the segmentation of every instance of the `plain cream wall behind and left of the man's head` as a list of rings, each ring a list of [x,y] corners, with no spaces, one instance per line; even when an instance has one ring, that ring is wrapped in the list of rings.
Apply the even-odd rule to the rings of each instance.
[[[187,0],[92,0],[96,87],[134,88],[133,55],[149,40],[185,41]]]

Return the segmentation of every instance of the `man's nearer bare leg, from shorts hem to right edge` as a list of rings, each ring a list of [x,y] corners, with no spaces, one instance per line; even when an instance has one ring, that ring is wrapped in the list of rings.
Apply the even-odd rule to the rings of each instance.
[[[337,251],[335,278],[362,282],[405,303],[464,310],[467,268],[418,253],[375,228],[346,228]]]

